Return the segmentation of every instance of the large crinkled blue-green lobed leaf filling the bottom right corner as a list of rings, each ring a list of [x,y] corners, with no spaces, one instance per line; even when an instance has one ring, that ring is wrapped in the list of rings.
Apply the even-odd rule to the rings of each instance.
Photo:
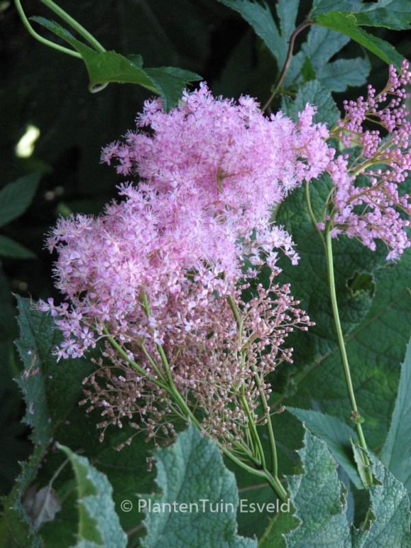
[[[303,473],[288,477],[295,527],[289,516],[275,516],[262,538],[263,548],[408,548],[410,500],[406,488],[369,455],[374,483],[369,486],[371,506],[363,527],[351,527],[345,488],[339,481],[327,445],[306,430],[299,450]],[[290,530],[290,526],[293,527]],[[282,536],[285,536],[286,543]]]

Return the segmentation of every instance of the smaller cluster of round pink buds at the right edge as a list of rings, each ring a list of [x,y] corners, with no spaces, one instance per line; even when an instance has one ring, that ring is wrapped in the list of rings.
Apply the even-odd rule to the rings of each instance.
[[[334,209],[326,220],[332,222],[333,236],[344,232],[372,250],[376,240],[382,240],[389,249],[387,260],[399,258],[411,245],[410,196],[399,190],[411,169],[411,123],[401,104],[410,80],[404,61],[398,75],[390,66],[388,84],[381,93],[375,95],[369,86],[366,100],[345,101],[345,118],[338,123],[335,136],[346,147],[360,148],[340,156],[328,169],[335,189]],[[364,129],[364,123],[377,123],[388,135]]]

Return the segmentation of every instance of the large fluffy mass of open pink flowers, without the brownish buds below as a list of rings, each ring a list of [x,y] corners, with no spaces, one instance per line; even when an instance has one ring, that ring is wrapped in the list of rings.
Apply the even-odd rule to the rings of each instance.
[[[162,343],[169,325],[192,327],[187,318],[197,304],[225,295],[264,262],[273,266],[273,249],[297,262],[289,234],[271,214],[334,154],[313,114],[307,106],[299,123],[282,114],[267,119],[253,99],[214,99],[205,85],[168,114],[160,100],[145,103],[138,126],[150,125],[153,134],[129,132],[125,143],[103,150],[107,162],[118,159],[118,171],[140,175],[138,188],[121,186],[125,199],[98,218],[60,219],[48,240],[58,251],[56,286],[67,302],[42,309],[59,316],[66,339],[60,356],[82,356],[103,324],[114,336]],[[156,322],[175,299],[180,309]]]

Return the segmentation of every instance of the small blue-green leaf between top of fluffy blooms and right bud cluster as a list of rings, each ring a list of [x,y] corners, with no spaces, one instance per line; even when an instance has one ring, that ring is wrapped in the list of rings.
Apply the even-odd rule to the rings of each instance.
[[[340,112],[336,107],[331,92],[323,88],[319,80],[310,80],[310,82],[299,86],[297,96],[294,100],[284,95],[282,97],[282,110],[292,120],[298,121],[298,114],[304,110],[307,103],[316,105],[318,108],[314,116],[315,123],[327,123],[329,128],[337,123]]]

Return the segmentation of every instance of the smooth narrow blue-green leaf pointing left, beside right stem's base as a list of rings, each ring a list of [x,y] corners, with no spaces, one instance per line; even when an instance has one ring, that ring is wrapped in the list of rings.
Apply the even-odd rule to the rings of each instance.
[[[297,416],[308,429],[327,443],[329,451],[335,460],[343,466],[349,479],[358,489],[364,488],[358,470],[353,462],[350,439],[356,439],[356,432],[335,416],[306,409],[287,407],[287,411]]]

